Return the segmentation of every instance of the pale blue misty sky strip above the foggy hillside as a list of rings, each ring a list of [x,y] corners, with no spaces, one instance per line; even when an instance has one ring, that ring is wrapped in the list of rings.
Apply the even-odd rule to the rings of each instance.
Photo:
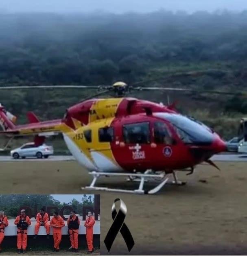
[[[242,11],[247,9],[247,0],[0,0],[4,12],[105,12],[128,11],[151,12],[159,9],[184,10],[189,13],[216,9]]]

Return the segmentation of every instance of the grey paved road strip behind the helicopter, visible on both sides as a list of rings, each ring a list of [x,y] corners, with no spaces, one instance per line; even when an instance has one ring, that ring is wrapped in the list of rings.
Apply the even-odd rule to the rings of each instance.
[[[29,158],[29,159],[12,159],[9,156],[0,156],[0,161],[74,161],[73,156],[52,156],[48,159],[36,159],[36,158]],[[247,161],[247,154],[218,154],[214,155],[211,158],[212,161]]]

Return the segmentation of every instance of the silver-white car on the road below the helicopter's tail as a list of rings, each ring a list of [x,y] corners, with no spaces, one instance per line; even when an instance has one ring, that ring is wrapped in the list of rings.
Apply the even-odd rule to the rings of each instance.
[[[14,159],[26,158],[26,157],[37,157],[37,158],[48,158],[53,154],[53,147],[43,144],[41,146],[35,146],[34,142],[26,143],[20,148],[15,148],[10,151],[11,157]]]

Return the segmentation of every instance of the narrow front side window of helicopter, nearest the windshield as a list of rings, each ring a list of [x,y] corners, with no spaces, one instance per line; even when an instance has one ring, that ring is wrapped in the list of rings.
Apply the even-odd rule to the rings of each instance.
[[[154,123],[154,142],[157,144],[171,145],[173,143],[172,136],[165,123],[157,121]]]

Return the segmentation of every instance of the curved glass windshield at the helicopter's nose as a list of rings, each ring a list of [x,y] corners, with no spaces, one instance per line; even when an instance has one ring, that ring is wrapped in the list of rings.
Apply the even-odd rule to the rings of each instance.
[[[154,115],[169,121],[177,135],[186,144],[209,145],[214,139],[213,131],[192,117],[171,113],[155,113]]]

